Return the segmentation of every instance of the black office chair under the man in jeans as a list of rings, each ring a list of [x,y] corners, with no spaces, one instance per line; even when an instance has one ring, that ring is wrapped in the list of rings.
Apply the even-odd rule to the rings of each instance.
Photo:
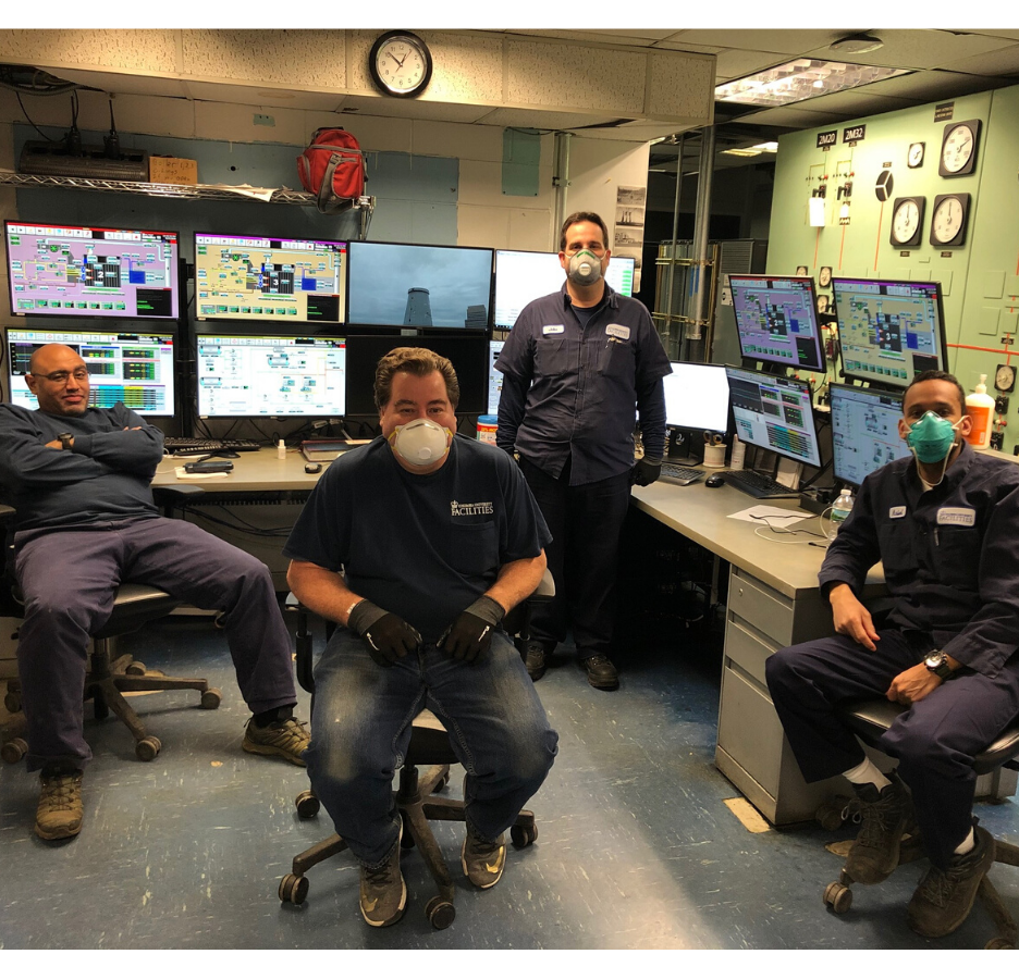
[[[552,575],[547,573],[538,591],[520,609],[515,610],[515,614],[507,618],[506,631],[517,637],[518,648],[521,645],[519,636],[526,635],[530,609],[533,605],[551,602],[554,597],[555,585]],[[287,598],[286,607],[297,617],[297,680],[308,693],[314,694],[312,641],[308,632],[307,610],[300,606],[294,595]],[[314,711],[311,723],[314,727]],[[394,793],[394,800],[404,822],[403,847],[404,850],[416,847],[420,852],[439,889],[438,896],[432,897],[425,907],[425,914],[437,931],[449,928],[456,918],[456,907],[453,903],[456,888],[428,822],[429,820],[466,821],[463,802],[442,798],[438,795],[450,784],[450,768],[458,764],[445,728],[430,710],[423,710],[413,724],[410,747],[407,751],[404,766],[400,770],[398,788]],[[418,770],[422,766],[429,766],[423,776]],[[319,801],[310,791],[298,795],[296,805],[297,814],[302,819],[314,819],[319,814]],[[520,813],[511,828],[509,837],[513,845],[520,850],[533,845],[538,841],[535,814],[527,810]],[[310,888],[305,875],[312,867],[343,853],[346,848],[346,842],[341,837],[333,835],[294,857],[293,871],[280,881],[280,901],[283,904],[297,906],[304,904]]]

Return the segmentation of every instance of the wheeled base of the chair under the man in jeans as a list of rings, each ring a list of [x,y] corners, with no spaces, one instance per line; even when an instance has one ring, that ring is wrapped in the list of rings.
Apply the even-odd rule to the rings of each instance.
[[[394,793],[396,807],[404,822],[404,850],[418,850],[425,859],[432,879],[439,889],[438,896],[428,902],[425,914],[429,924],[437,931],[449,928],[456,918],[456,888],[442,851],[429,827],[429,820],[443,822],[466,822],[463,802],[440,798],[435,795],[450,783],[450,766],[437,765],[420,777],[418,769],[405,765],[400,771],[400,788]],[[318,801],[309,792],[297,798],[297,810],[302,818],[318,815]],[[531,846],[538,840],[538,827],[535,814],[524,811],[517,817],[511,830],[513,843],[518,847]],[[293,872],[280,881],[279,896],[283,904],[303,905],[308,897],[310,884],[306,877],[312,868],[347,850],[341,837],[331,837],[317,846],[305,851],[294,858]]]

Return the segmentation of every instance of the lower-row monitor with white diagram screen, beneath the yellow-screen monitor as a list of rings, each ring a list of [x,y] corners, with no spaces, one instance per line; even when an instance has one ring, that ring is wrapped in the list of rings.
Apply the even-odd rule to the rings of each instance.
[[[199,336],[201,418],[342,418],[346,340],[335,337]]]

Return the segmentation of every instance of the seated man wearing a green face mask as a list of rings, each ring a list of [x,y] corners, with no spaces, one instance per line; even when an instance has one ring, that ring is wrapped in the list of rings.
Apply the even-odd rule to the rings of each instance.
[[[884,881],[919,823],[931,868],[908,920],[925,938],[961,927],[994,862],[994,840],[973,819],[972,760],[1019,716],[1019,467],[966,444],[965,406],[949,374],[912,383],[899,434],[916,462],[863,482],[821,569],[839,636],[768,661],[803,776],[845,774],[856,789],[862,829],[849,876]],[[880,631],[857,598],[877,561],[895,600]],[[887,778],[836,715],[874,696],[910,708],[883,738],[899,761]]]

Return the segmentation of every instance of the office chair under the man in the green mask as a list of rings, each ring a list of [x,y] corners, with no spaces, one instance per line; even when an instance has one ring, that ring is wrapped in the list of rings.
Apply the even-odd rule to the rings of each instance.
[[[854,733],[864,744],[880,751],[881,736],[906,709],[887,701],[861,701],[846,705],[842,710],[842,715],[852,728]],[[999,768],[1019,771],[1019,761],[1017,759],[1019,759],[1019,722],[1012,724],[994,744],[981,755],[978,755],[973,760],[973,770],[978,776],[991,774]],[[824,825],[832,828],[828,822],[824,822]],[[1019,846],[995,840],[994,847],[995,863],[1019,867]],[[922,856],[923,851],[919,838],[906,840],[904,841],[899,866],[918,860]],[[836,915],[848,914],[852,907],[851,887],[854,883],[852,878],[843,870],[839,879],[828,884],[824,892],[825,906]],[[1017,929],[1011,914],[1002,902],[994,884],[986,877],[980,884],[979,896],[998,931],[997,938],[987,943],[985,951],[1014,952],[1017,940],[1019,940],[1019,929]]]

